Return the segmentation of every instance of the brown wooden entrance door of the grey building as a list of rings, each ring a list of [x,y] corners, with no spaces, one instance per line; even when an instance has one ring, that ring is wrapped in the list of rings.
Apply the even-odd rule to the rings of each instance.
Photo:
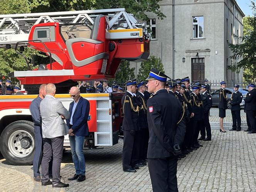
[[[192,58],[192,82],[204,83],[204,58]]]

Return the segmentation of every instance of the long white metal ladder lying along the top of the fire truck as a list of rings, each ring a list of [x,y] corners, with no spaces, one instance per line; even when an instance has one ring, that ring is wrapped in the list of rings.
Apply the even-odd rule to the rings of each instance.
[[[150,38],[145,24],[140,24],[133,14],[126,13],[125,8],[101,9],[101,10],[81,10],[48,13],[24,13],[0,15],[0,48],[10,49],[19,41],[26,41],[29,38],[30,29],[35,24],[46,22],[59,22],[60,25],[83,24],[92,29],[94,21],[98,15],[105,15],[108,18],[109,39],[130,39]],[[130,29],[115,31],[116,29]],[[133,33],[133,30],[139,31]],[[68,34],[69,35],[69,34]],[[27,44],[19,44],[24,46]]]

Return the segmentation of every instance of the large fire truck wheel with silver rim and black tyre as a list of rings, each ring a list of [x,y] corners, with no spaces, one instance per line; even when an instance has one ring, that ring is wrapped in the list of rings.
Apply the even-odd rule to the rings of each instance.
[[[12,165],[32,165],[34,149],[34,123],[30,121],[15,121],[0,136],[0,151]]]

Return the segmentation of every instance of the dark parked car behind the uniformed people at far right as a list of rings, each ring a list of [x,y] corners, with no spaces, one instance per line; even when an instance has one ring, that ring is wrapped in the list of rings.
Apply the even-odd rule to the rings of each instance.
[[[219,91],[220,89],[214,91],[212,95],[212,106],[219,106]],[[243,95],[243,98],[245,98],[246,94],[249,92],[247,89],[239,88],[238,91],[240,91]],[[227,94],[227,108],[231,109],[231,94],[234,93],[234,89],[232,88],[225,88],[225,92]],[[244,107],[244,99],[242,100],[242,103],[240,103],[240,106]]]

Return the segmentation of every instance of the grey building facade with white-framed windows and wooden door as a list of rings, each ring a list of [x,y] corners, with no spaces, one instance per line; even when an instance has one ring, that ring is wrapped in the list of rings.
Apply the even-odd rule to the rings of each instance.
[[[238,62],[230,58],[228,44],[240,43],[236,36],[243,36],[245,15],[235,0],[163,0],[159,5],[163,20],[148,13],[150,54],[162,59],[168,76],[242,81],[242,70],[236,74],[227,69]],[[138,72],[139,64],[131,66]]]

